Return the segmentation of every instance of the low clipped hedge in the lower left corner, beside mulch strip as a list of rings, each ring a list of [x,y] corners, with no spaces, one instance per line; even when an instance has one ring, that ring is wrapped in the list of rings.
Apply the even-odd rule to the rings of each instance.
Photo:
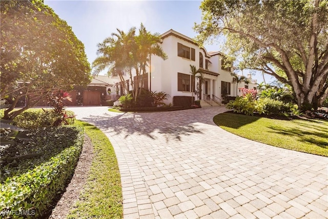
[[[43,131],[42,136],[31,136],[30,142],[34,142],[34,145],[22,146],[30,152],[43,148],[42,157],[24,160],[18,166],[10,167],[8,164],[2,167],[2,173],[9,172],[2,175],[0,192],[0,212],[5,218],[23,218],[22,212],[30,214],[24,217],[39,218],[53,203],[56,195],[65,189],[74,172],[83,146],[83,127],[51,127]],[[58,138],[58,134],[61,137]],[[11,156],[11,152],[7,154]],[[14,213],[4,215],[6,212]]]

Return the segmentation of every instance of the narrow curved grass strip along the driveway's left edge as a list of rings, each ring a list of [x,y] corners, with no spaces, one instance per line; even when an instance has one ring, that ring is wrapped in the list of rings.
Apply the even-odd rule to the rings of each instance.
[[[67,218],[122,218],[122,189],[114,149],[106,135],[95,126],[84,125],[93,145],[88,183]]]

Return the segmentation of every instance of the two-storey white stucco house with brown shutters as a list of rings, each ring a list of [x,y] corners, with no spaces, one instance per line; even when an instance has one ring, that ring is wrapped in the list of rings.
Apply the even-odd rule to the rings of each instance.
[[[196,69],[199,68],[203,72],[200,99],[214,99],[216,102],[221,102],[224,94],[228,96],[240,95],[240,93],[236,94],[236,86],[241,88],[245,87],[245,84],[233,83],[231,69],[223,67],[224,55],[221,52],[207,52],[206,49],[199,48],[192,38],[172,29],[161,34],[161,38],[161,47],[168,55],[168,59],[163,60],[154,55],[151,57],[151,71],[148,67],[148,73],[144,79],[144,88],[152,91],[164,91],[169,94],[171,97],[167,104],[172,103],[173,96],[191,96],[190,65],[194,65]],[[124,74],[125,83],[128,85],[131,83],[129,75],[127,72]],[[247,77],[249,88],[256,89],[256,81],[251,78],[251,75]],[[124,92],[118,76],[113,75],[111,78],[114,82],[112,84],[115,84],[114,89],[122,95]],[[195,81],[193,87],[196,89],[199,80],[193,81]],[[129,90],[132,89],[131,86],[127,87]],[[240,92],[239,89],[237,92]]]

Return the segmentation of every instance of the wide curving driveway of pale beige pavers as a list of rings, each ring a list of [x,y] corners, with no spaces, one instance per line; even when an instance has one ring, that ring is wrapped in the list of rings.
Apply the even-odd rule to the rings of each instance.
[[[125,218],[327,218],[328,158],[222,130],[224,107],[114,113],[72,107],[111,141]]]

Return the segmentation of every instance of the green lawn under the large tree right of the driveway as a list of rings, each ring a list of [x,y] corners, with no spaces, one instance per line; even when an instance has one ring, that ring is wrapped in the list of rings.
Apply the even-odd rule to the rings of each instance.
[[[222,129],[250,140],[328,156],[328,121],[273,120],[234,113],[218,114],[213,121]]]

